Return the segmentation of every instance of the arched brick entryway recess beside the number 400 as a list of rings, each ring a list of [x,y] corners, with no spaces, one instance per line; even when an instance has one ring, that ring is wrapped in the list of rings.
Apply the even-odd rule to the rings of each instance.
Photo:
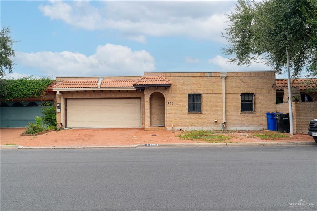
[[[150,95],[150,126],[165,126],[165,97],[159,92]]]

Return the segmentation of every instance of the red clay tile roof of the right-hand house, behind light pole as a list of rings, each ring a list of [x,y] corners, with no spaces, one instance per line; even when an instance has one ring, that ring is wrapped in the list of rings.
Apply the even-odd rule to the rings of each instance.
[[[313,84],[308,83],[309,80],[314,80],[317,82],[317,79],[291,79],[291,87],[298,87],[300,90],[307,90],[314,87]],[[287,79],[276,79],[276,90],[284,90],[287,88]]]

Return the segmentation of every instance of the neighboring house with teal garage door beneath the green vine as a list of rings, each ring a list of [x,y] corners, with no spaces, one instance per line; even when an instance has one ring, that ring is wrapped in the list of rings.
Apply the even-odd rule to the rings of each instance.
[[[42,104],[53,105],[56,102],[56,92],[52,90],[52,83],[45,90],[42,98],[29,98],[23,100],[3,101],[0,107],[0,126],[25,127],[28,122],[35,122],[35,116],[42,116]]]

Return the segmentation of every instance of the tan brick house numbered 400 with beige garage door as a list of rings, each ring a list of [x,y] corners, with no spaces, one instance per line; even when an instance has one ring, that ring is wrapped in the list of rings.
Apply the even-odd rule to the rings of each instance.
[[[56,77],[61,127],[261,130],[276,111],[275,72]],[[224,123],[224,124],[223,124]]]

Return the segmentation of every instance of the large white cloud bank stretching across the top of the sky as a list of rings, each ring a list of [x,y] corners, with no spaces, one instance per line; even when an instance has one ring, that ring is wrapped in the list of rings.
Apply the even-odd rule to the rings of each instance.
[[[61,20],[87,30],[118,29],[126,37],[184,35],[225,42],[225,13],[230,1],[109,1],[98,7],[90,2],[53,1],[39,10],[51,20]],[[139,37],[139,39],[137,39]]]

